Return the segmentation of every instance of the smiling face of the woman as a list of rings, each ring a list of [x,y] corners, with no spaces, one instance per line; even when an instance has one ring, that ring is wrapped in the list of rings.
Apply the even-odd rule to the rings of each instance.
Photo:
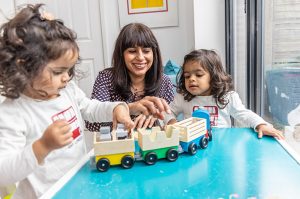
[[[144,78],[153,63],[152,48],[127,48],[123,55],[130,78]]]

